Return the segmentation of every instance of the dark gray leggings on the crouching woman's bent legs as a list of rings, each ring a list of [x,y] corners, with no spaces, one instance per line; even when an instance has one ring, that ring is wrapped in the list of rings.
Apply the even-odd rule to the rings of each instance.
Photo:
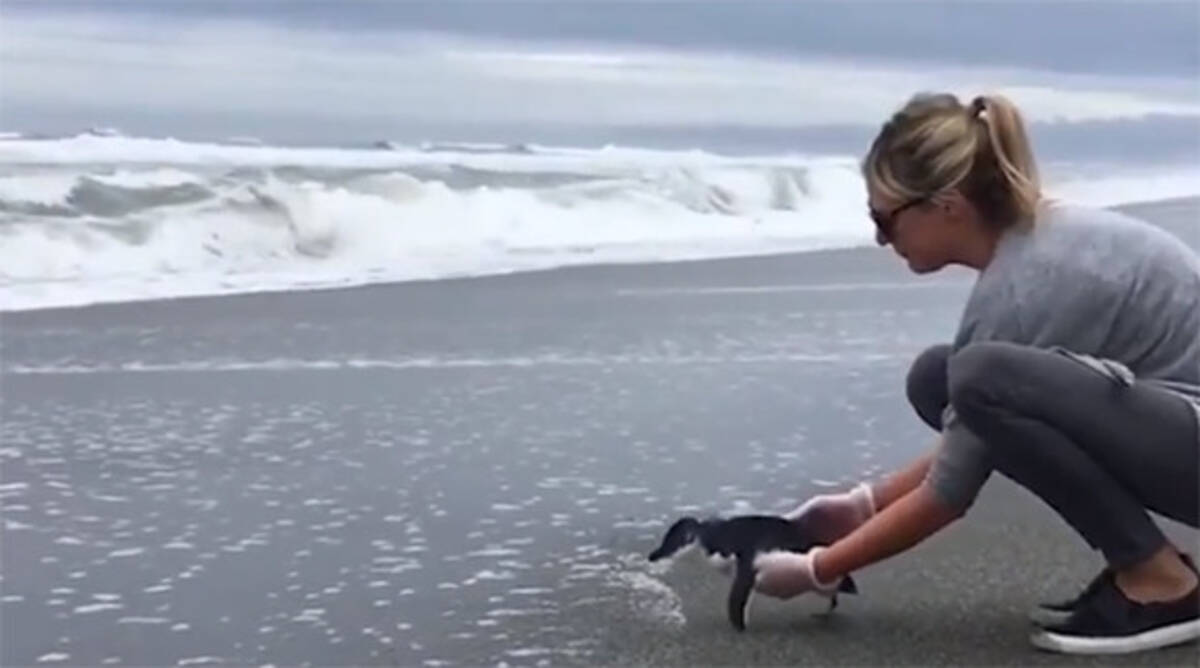
[[[1166,543],[1147,510],[1198,525],[1196,415],[1165,390],[1121,386],[1049,350],[976,343],[953,356],[948,345],[923,353],[908,399],[935,429],[953,404],[995,470],[1050,505],[1115,567]]]

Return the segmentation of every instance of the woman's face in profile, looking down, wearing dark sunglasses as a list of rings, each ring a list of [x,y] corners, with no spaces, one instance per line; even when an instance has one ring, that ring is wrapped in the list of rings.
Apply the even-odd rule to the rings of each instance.
[[[953,261],[956,225],[949,209],[937,200],[896,200],[869,188],[875,240],[890,245],[916,273],[937,271]]]

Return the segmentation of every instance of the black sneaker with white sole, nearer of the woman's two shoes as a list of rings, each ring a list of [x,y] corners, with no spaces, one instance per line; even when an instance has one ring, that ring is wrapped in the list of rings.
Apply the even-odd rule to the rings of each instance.
[[[1067,654],[1128,654],[1200,638],[1200,585],[1175,601],[1138,603],[1114,578],[1099,582],[1066,622],[1038,631],[1030,642]]]

